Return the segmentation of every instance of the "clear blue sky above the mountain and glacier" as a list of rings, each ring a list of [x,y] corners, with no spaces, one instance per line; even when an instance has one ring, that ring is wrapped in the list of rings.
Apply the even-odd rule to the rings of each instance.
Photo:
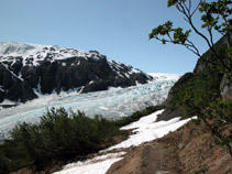
[[[191,72],[196,55],[148,41],[152,29],[168,20],[188,29],[166,0],[0,0],[0,42],[96,50],[146,73]],[[192,40],[207,50],[199,37]]]

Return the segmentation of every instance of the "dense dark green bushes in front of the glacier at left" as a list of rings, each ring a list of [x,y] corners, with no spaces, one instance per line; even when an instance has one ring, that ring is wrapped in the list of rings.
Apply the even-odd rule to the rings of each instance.
[[[0,174],[22,167],[43,170],[53,161],[82,159],[113,143],[113,137],[125,134],[121,126],[139,120],[163,107],[147,107],[118,121],[101,116],[93,119],[84,112],[64,108],[47,110],[37,124],[20,123],[12,138],[0,145]]]

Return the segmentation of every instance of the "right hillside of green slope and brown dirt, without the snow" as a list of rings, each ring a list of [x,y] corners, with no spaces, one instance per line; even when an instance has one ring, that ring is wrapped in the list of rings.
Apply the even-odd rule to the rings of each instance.
[[[216,47],[228,58],[223,39]],[[216,61],[210,51],[202,56]],[[172,87],[164,102],[166,110],[156,121],[192,116],[198,119],[131,150],[107,174],[231,174],[231,74],[199,58],[195,70]]]

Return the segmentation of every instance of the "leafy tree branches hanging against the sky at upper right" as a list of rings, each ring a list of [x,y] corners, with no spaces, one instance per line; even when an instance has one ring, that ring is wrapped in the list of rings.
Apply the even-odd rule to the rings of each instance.
[[[158,25],[153,29],[150,34],[151,39],[162,41],[163,44],[174,43],[184,45],[191,51],[202,61],[219,66],[224,72],[232,73],[232,1],[231,0],[217,0],[207,2],[207,0],[198,0],[197,4],[192,6],[192,0],[168,0],[167,7],[176,7],[176,9],[184,15],[184,20],[190,25],[191,30],[184,30],[181,28],[173,28],[173,22],[167,21],[165,24]],[[201,15],[201,28],[207,31],[208,34],[201,32],[194,23],[194,15],[199,11]],[[209,46],[209,50],[213,53],[212,57],[203,58],[199,52],[198,46],[190,41],[189,36],[191,32],[198,34]],[[227,45],[225,58],[219,54],[213,43],[213,32],[220,33],[224,39]]]

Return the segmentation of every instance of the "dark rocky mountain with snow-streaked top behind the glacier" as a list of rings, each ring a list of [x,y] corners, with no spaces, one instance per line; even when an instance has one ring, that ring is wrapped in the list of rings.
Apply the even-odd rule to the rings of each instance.
[[[0,102],[26,101],[38,94],[106,90],[146,84],[153,77],[97,51],[0,43]]]

